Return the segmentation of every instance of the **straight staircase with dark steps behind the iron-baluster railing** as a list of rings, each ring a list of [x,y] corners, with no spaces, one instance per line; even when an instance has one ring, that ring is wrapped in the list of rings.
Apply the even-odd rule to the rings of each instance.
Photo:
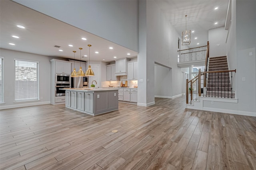
[[[225,70],[228,70],[228,61],[226,56],[209,58],[209,72]],[[235,98],[235,93],[232,92],[230,73],[208,73],[206,96],[218,98]]]

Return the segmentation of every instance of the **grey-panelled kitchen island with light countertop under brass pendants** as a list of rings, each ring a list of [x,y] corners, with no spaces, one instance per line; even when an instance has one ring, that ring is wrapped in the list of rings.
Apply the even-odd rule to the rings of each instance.
[[[118,110],[118,89],[62,88],[66,107],[90,115]]]

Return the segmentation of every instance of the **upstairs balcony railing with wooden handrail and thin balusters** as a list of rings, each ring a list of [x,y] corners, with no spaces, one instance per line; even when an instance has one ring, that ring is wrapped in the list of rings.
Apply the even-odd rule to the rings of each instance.
[[[205,60],[209,51],[208,45],[178,51],[178,63]]]

